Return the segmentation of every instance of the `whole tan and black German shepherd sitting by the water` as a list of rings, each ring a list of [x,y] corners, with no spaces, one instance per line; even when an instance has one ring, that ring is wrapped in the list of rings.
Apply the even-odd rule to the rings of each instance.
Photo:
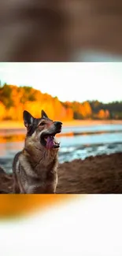
[[[57,187],[57,154],[60,143],[55,135],[61,132],[60,121],[52,121],[42,110],[35,118],[24,110],[27,135],[24,149],[13,159],[13,193],[54,194]]]

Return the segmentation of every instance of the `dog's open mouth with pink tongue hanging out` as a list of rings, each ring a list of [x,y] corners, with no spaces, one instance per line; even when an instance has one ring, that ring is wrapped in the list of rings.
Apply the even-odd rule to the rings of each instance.
[[[41,143],[47,149],[60,147],[60,143],[57,143],[56,140],[55,140],[55,134],[41,135]]]

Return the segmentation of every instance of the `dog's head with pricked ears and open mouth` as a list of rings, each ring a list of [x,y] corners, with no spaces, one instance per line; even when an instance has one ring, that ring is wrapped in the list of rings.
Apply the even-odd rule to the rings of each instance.
[[[62,123],[52,121],[42,110],[42,117],[35,118],[31,113],[24,110],[24,125],[27,128],[27,137],[31,137],[35,143],[40,143],[46,149],[58,149],[60,143],[57,143],[55,135],[61,132]]]

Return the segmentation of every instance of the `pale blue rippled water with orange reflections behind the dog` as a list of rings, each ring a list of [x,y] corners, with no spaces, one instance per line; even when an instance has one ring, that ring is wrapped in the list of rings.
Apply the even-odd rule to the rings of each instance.
[[[74,135],[69,136],[68,133],[71,132]],[[0,132],[0,137],[6,139],[6,142],[0,143],[0,165],[7,171],[11,169],[13,156],[24,147],[24,139],[17,141],[18,139],[13,135],[24,137],[24,133],[24,129]],[[72,161],[76,158],[84,159],[97,154],[122,152],[122,124],[65,127],[62,130],[62,136],[57,140],[61,142],[60,162]]]

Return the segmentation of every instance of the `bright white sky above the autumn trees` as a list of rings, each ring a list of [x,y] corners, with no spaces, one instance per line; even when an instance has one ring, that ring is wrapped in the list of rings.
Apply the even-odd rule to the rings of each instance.
[[[122,100],[122,63],[0,62],[2,83],[27,85],[61,101]]]

